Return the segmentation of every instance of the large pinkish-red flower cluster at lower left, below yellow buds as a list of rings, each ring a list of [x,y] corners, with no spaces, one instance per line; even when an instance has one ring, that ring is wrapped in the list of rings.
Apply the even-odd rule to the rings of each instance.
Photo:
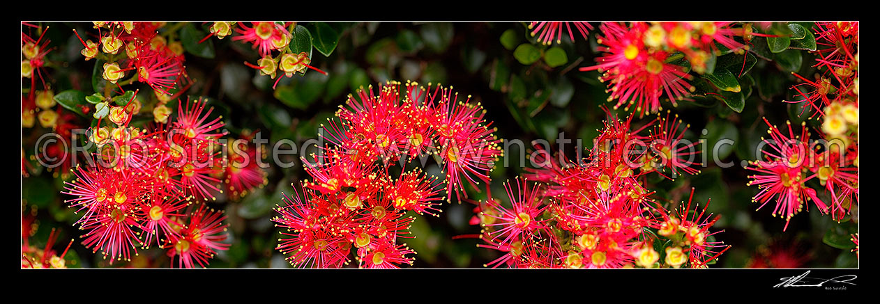
[[[202,99],[180,101],[178,107],[170,124],[143,130],[129,127],[131,115],[114,107],[108,117],[115,126],[99,123],[91,130],[90,140],[98,146],[93,164],[77,165],[76,178],[65,182],[62,193],[75,197],[67,202],[83,213],[76,224],[86,230],[84,245],[102,250],[111,264],[130,261],[138,245],[149,249],[156,242],[172,266],[205,266],[229,244],[223,242],[225,215],[201,201],[223,193],[220,178],[237,192],[265,184],[259,167],[216,168],[217,156],[227,162],[227,153],[219,141],[224,133],[217,131],[224,127],[222,117],[209,119],[213,108],[205,111]],[[240,157],[256,162],[256,155],[235,147],[231,163],[241,163]]]

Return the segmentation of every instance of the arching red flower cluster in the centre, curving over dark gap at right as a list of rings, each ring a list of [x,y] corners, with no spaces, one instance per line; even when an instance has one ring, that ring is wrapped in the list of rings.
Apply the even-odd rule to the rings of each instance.
[[[295,266],[341,267],[353,247],[360,267],[412,264],[407,254],[415,252],[397,240],[414,237],[407,212],[438,216],[441,183],[447,200],[453,192],[466,196],[462,176],[474,189],[488,183],[502,154],[495,130],[470,97],[461,101],[452,88],[409,82],[406,91],[396,82],[378,89],[378,95],[371,86],[359,90],[336,112],[340,122],[328,119],[322,136],[332,145],[319,148],[312,161],[303,158],[312,176],[304,182],[304,198],[285,195],[285,206],[275,209],[280,216],[272,221],[287,230],[277,249],[291,254]],[[445,170],[441,182],[418,168],[404,170],[405,162],[429,155]],[[395,179],[389,170],[398,162],[403,169]]]

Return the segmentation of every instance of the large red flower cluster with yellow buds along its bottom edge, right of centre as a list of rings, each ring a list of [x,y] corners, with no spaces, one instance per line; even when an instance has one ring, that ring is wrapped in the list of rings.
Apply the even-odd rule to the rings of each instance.
[[[491,197],[479,203],[472,223],[480,223],[487,243],[477,246],[504,253],[487,266],[700,268],[729,248],[709,231],[719,217],[692,204],[693,189],[670,212],[646,185],[652,173],[698,172],[682,158],[696,152],[681,141],[680,120],[660,118],[631,130],[632,118],[606,121],[583,163],[554,160],[536,147],[539,168],[505,185],[510,205]],[[658,132],[640,134],[655,123]]]

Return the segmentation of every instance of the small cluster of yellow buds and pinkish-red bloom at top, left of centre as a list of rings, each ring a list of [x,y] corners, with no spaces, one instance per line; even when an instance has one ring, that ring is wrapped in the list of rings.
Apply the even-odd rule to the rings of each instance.
[[[260,75],[269,76],[275,80],[273,88],[278,85],[282,77],[281,75],[292,77],[296,73],[305,73],[306,69],[314,69],[321,74],[327,74],[325,71],[309,65],[312,63],[310,54],[306,52],[293,53],[290,50],[290,39],[293,29],[297,26],[296,22],[251,22],[248,26],[243,22],[225,22],[217,21],[210,26],[210,32],[204,40],[210,36],[216,36],[218,39],[224,39],[225,36],[235,31],[237,36],[232,40],[241,40],[253,44],[254,49],[258,49],[260,60],[257,64],[245,62],[245,65],[253,69],[260,70]],[[273,55],[273,52],[278,54]]]

